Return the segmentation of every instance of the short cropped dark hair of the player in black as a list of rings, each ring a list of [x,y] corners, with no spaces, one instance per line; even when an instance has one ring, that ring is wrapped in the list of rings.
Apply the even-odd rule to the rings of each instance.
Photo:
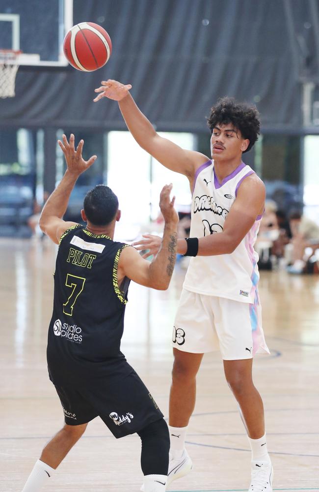
[[[86,193],[83,209],[91,224],[107,225],[118,211],[118,199],[111,188],[98,184]]]

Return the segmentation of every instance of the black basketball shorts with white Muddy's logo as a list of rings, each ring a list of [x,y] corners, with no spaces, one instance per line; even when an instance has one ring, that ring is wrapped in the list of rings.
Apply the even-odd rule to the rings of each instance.
[[[86,424],[101,417],[116,437],[138,432],[163,417],[143,381],[133,370],[123,379],[90,388],[56,386],[65,423]]]

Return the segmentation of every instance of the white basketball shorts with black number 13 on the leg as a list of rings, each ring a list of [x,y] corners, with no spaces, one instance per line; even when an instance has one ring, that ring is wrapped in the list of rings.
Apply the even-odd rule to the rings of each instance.
[[[269,354],[261,306],[183,289],[173,328],[173,347],[203,354],[220,350],[223,360]]]

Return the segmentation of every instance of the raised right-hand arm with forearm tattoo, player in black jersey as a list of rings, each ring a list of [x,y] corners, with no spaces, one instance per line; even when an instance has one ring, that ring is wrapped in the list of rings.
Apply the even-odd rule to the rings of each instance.
[[[160,210],[165,220],[164,234],[160,249],[152,263],[144,260],[133,247],[124,248],[118,265],[118,282],[129,277],[136,283],[166,290],[173,274],[176,247],[178,215],[174,209],[174,199],[170,201],[172,186],[164,186],[160,194]]]

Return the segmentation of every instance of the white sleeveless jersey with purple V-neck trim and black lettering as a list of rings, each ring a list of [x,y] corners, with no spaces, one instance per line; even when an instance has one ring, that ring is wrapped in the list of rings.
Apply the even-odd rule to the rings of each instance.
[[[225,219],[241,182],[254,171],[243,162],[221,184],[214,175],[213,161],[196,172],[191,205],[190,237],[201,238],[223,231]],[[184,288],[198,294],[259,304],[258,254],[254,244],[262,215],[230,254],[191,257]]]

